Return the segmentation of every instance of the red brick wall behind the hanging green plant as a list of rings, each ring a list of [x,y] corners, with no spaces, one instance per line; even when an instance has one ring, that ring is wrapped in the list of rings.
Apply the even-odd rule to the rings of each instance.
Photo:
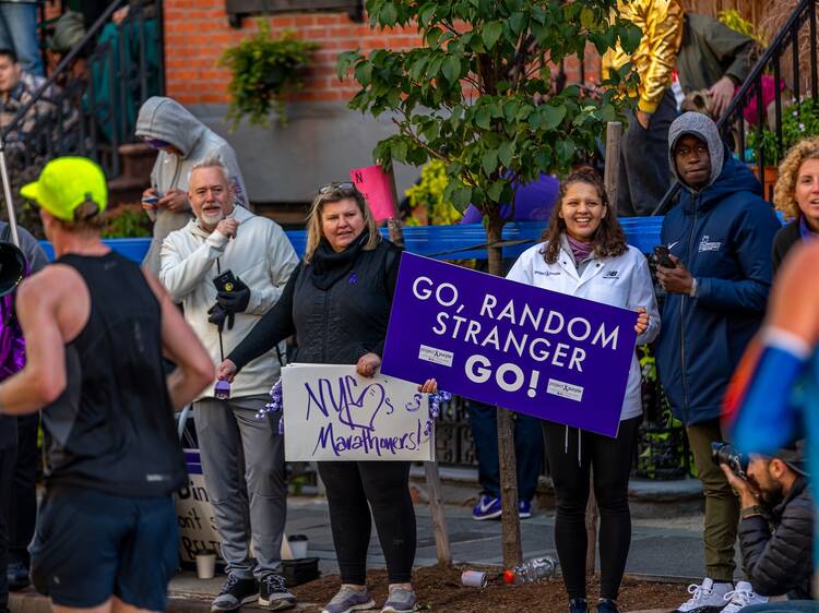
[[[241,29],[228,25],[225,0],[165,0],[165,58],[167,95],[185,105],[226,104],[229,72],[216,65],[222,51],[257,29],[246,19]],[[419,44],[414,31],[373,31],[354,23],[346,13],[288,13],[265,17],[274,35],[285,28],[318,43],[298,100],[347,100],[357,91],[353,81],[340,82],[335,74],[339,53],[352,49],[408,48]],[[567,77],[577,81],[578,62],[568,62]],[[586,53],[586,79],[596,80],[596,53]]]

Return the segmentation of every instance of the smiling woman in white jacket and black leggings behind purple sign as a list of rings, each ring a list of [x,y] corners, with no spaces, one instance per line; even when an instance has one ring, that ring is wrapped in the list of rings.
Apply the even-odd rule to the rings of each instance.
[[[508,279],[636,311],[638,345],[660,332],[654,288],[645,257],[626,236],[600,176],[577,170],[560,185],[560,200],[544,242],[521,254]],[[585,593],[590,470],[600,507],[601,598],[598,613],[617,613],[617,594],[631,543],[628,482],[642,421],[640,364],[633,357],[617,437],[545,422],[546,455],[557,494],[555,544],[569,593],[569,612],[587,613]]]

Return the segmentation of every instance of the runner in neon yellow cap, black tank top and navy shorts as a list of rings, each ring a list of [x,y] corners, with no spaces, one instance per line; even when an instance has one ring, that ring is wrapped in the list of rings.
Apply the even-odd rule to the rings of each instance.
[[[59,612],[164,611],[178,563],[171,492],[186,481],[173,412],[213,364],[158,281],[102,242],[96,164],[55,159],[22,193],[57,257],[20,286],[28,361],[0,384],[0,414],[43,409],[51,438],[35,587]],[[178,364],[167,378],[163,354]]]

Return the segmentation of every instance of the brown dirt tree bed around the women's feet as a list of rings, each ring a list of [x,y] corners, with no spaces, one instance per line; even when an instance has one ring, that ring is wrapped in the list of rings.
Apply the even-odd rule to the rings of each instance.
[[[471,567],[472,569],[475,569]],[[568,609],[561,579],[530,586],[495,586],[486,589],[465,588],[461,585],[461,567],[427,566],[413,574],[413,582],[420,604],[428,611],[439,613],[562,613]],[[370,570],[368,585],[379,608],[387,597],[387,573]],[[310,613],[320,613],[339,589],[339,577],[328,576],[293,588],[301,603],[320,603],[306,608]],[[589,584],[589,600],[596,602],[600,590],[597,578]],[[620,611],[646,609],[673,610],[685,599],[685,587],[677,584],[638,581],[627,578],[620,591]],[[592,609],[594,610],[594,609]]]

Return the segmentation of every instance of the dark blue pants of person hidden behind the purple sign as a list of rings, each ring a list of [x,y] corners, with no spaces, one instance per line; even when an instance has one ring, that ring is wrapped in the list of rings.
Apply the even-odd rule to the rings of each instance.
[[[484,494],[500,497],[500,467],[498,465],[497,409],[470,400],[468,412],[472,437],[478,457],[478,481]],[[543,462],[543,422],[534,417],[514,413],[514,455],[518,459],[518,497],[531,501],[535,496],[537,477]]]

